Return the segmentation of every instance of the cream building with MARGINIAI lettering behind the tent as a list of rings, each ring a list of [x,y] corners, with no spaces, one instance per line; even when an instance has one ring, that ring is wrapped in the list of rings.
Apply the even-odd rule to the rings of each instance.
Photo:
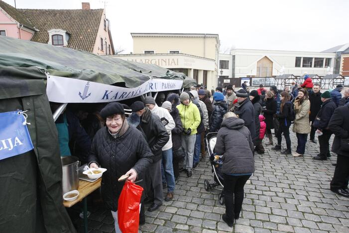
[[[131,33],[133,53],[111,57],[155,64],[184,73],[207,89],[218,80],[220,40],[218,34]]]

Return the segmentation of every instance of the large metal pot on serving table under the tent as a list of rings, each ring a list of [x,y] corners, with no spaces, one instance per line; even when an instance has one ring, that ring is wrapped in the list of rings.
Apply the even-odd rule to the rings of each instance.
[[[63,194],[79,188],[79,158],[75,156],[61,156],[62,162],[62,190]]]

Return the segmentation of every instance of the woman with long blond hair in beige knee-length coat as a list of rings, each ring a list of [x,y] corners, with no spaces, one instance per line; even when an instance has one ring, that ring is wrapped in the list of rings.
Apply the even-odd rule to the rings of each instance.
[[[310,101],[308,92],[304,89],[300,89],[298,91],[298,96],[294,101],[294,112],[296,116],[292,128],[297,136],[297,150],[292,154],[295,157],[303,156],[305,152],[305,144],[307,143],[308,133],[310,133],[311,130],[309,111]]]

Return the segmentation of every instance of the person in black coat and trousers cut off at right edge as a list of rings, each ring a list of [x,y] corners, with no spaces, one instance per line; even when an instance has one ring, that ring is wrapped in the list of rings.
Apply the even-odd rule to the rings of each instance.
[[[337,165],[331,181],[331,191],[349,197],[349,150],[346,150],[341,139],[349,138],[349,105],[339,107],[333,113],[328,127],[336,135],[332,144],[332,152],[337,153]],[[348,142],[347,142],[348,143]]]

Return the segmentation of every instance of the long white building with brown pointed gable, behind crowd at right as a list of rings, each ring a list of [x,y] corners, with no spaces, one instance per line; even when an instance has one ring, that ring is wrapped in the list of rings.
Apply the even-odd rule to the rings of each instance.
[[[233,49],[231,54],[219,55],[219,73],[222,73],[219,84],[224,86],[228,83],[227,78],[276,77],[281,74],[325,76],[333,73],[334,63],[335,53],[330,52]]]

